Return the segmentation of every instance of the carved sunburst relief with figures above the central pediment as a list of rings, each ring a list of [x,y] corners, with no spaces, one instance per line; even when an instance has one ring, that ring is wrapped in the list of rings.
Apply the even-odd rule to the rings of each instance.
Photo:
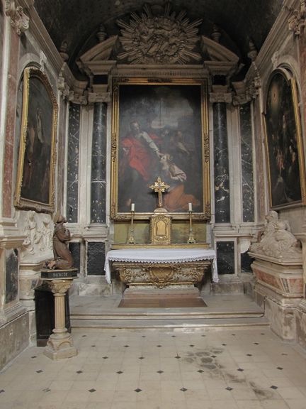
[[[149,5],[142,13],[130,14],[130,22],[117,21],[122,28],[120,42],[123,52],[120,60],[128,59],[134,64],[186,64],[191,60],[200,60],[201,56],[193,49],[200,39],[198,26],[202,19],[192,23],[186,18],[186,12],[177,16],[166,4],[164,15],[154,15]]]

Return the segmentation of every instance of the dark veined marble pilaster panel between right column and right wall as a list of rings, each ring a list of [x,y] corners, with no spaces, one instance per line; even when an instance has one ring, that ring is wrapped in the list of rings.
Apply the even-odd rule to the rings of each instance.
[[[251,132],[251,105],[242,105],[240,114],[240,136],[242,155],[242,219],[243,222],[254,222],[254,180],[253,180],[253,146]]]

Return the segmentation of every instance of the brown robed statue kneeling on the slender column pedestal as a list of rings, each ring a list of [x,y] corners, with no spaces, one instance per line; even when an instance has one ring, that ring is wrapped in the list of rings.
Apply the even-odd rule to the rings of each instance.
[[[71,239],[71,234],[64,223],[67,220],[57,212],[55,218],[53,219],[55,223],[55,229],[53,232],[53,254],[54,259],[47,261],[45,263],[45,268],[66,270],[67,268],[72,268],[74,261],[72,258],[72,253],[68,249],[67,242]]]

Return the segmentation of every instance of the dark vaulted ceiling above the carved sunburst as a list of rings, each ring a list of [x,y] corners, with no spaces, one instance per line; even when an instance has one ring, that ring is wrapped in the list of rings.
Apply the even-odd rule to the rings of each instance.
[[[68,63],[76,69],[75,60],[81,53],[98,43],[96,33],[101,24],[108,36],[120,33],[118,18],[129,21],[130,13],[141,13],[149,4],[160,13],[166,6],[164,0],[35,0],[35,9],[57,49],[67,43]],[[203,19],[198,34],[211,36],[213,24],[222,33],[220,43],[227,46],[245,65],[249,39],[256,49],[263,45],[268,32],[280,12],[283,0],[175,0],[171,9],[175,13],[186,11],[192,22]]]

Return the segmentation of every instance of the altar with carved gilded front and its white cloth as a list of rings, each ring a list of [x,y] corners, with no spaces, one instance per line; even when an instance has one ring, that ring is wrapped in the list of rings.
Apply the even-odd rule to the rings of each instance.
[[[203,280],[211,268],[211,279],[218,282],[216,253],[203,248],[137,248],[110,250],[106,254],[106,280],[118,272],[128,287],[193,286]]]

